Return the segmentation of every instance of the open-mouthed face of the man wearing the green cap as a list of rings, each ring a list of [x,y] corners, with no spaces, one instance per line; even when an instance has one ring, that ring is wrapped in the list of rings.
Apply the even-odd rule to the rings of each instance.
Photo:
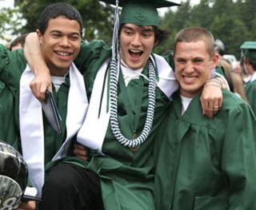
[[[141,69],[146,65],[154,48],[153,26],[125,24],[120,32],[121,59],[130,69]]]

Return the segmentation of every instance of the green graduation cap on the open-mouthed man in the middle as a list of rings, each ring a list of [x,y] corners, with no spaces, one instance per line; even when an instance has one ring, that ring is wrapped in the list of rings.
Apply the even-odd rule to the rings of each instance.
[[[115,0],[101,0],[115,5]],[[122,6],[119,23],[131,23],[136,26],[159,26],[160,18],[157,8],[179,6],[179,4],[166,0],[120,0]]]

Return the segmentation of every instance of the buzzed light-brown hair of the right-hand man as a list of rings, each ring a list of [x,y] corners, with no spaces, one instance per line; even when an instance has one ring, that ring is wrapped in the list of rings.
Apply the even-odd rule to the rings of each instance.
[[[206,50],[210,57],[214,56],[214,36],[209,30],[202,27],[189,27],[180,30],[174,39],[174,54],[178,42],[198,42],[206,43]]]

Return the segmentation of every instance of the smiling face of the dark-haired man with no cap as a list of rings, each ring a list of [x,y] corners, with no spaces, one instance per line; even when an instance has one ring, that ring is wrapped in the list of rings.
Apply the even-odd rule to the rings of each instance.
[[[52,18],[44,34],[37,30],[42,56],[53,76],[64,76],[80,50],[80,26],[64,17]]]

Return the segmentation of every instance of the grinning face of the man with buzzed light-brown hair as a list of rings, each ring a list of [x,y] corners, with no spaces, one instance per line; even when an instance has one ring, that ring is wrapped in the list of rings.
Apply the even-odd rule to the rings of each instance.
[[[217,64],[218,55],[210,56],[205,42],[178,42],[174,52],[174,65],[182,96],[195,97]]]

